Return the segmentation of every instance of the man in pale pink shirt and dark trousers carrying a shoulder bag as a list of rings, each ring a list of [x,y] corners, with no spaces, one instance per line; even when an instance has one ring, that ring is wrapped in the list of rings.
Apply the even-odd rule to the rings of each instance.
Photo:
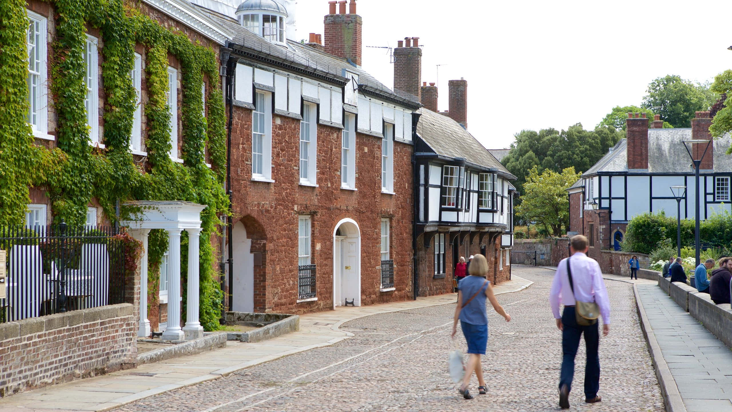
[[[600,345],[598,323],[590,326],[577,324],[575,320],[575,298],[580,302],[596,302],[602,315],[602,334],[610,332],[610,299],[602,271],[597,261],[587,257],[587,238],[583,235],[573,236],[569,240],[570,257],[559,262],[554,275],[554,282],[549,293],[551,311],[556,319],[556,327],[561,331],[561,374],[559,376],[559,406],[569,408],[569,391],[572,389],[572,378],[575,375],[575,356],[580,345],[580,336],[585,335],[587,362],[585,367],[585,402],[600,402],[597,396],[600,390],[600,356],[597,348]],[[572,284],[569,283],[567,264],[571,265]],[[572,292],[574,290],[574,292]],[[564,305],[564,313],[559,314],[559,305]]]

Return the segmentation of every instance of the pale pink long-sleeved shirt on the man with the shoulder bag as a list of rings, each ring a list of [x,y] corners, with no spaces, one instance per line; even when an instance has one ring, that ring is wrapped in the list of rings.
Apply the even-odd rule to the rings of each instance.
[[[597,306],[600,306],[602,323],[609,324],[610,298],[608,298],[608,290],[605,289],[605,280],[602,279],[600,265],[582,252],[573,254],[569,262],[569,265],[572,265],[572,283],[575,286],[575,293],[572,295],[572,288],[569,287],[567,259],[564,259],[556,268],[554,282],[551,284],[549,293],[549,304],[554,318],[561,319],[559,304],[574,305],[576,296],[580,302],[597,302]]]

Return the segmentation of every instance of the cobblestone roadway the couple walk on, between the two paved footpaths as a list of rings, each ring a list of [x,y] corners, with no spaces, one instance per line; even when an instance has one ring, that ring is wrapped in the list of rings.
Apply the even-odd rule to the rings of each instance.
[[[447,374],[455,310],[448,304],[354,320],[343,328],[356,336],[336,345],[116,411],[559,411],[561,334],[547,299],[554,272],[522,267],[513,271],[536,283],[498,296],[512,315],[510,323],[490,310],[490,340],[483,358],[488,395],[477,394],[474,378],[474,400],[463,400]],[[663,401],[635,313],[632,285],[606,283],[613,324],[610,336],[600,340],[602,402],[583,402],[580,345],[570,411],[661,412]],[[465,342],[458,342],[464,352]]]

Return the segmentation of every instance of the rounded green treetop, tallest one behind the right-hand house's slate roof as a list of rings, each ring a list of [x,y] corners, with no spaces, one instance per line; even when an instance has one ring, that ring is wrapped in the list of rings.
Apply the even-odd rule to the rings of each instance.
[[[708,110],[716,100],[709,84],[694,84],[673,75],[651,81],[646,92],[641,107],[646,112],[654,110],[674,128],[691,127],[694,112]]]

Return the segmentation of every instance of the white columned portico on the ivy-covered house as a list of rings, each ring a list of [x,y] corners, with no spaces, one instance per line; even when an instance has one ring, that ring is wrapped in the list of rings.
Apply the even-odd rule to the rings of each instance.
[[[198,321],[198,244],[201,235],[201,211],[206,205],[193,202],[152,202],[138,201],[126,206],[138,208],[129,221],[122,221],[124,227],[143,243],[140,262],[140,329],[138,336],[150,336],[150,321],[147,317],[147,247],[151,229],[164,229],[168,232],[168,328],[163,339],[181,340],[203,337],[203,327]],[[188,284],[186,324],[181,328],[180,291],[180,249],[181,232],[188,232]]]

